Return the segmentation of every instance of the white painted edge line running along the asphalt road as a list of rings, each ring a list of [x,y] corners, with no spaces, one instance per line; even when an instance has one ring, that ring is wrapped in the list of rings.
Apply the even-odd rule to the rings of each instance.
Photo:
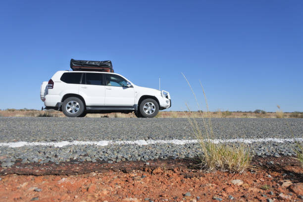
[[[212,142],[218,143],[254,143],[254,142],[275,142],[275,143],[285,143],[285,142],[303,142],[303,138],[261,138],[261,139],[214,139]],[[198,140],[135,140],[135,141],[73,141],[73,142],[11,142],[11,143],[0,143],[0,147],[35,147],[35,146],[48,146],[48,147],[64,147],[70,145],[94,145],[94,146],[107,146],[107,145],[151,145],[151,144],[175,144],[175,145],[185,145],[190,143],[198,143]]]

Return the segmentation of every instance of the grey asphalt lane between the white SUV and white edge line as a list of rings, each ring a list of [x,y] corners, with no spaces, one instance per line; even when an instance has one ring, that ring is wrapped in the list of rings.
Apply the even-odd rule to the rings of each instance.
[[[196,120],[203,127],[202,119]],[[303,137],[303,119],[213,118],[212,123],[218,139]],[[195,136],[186,118],[0,117],[0,142],[149,139]]]

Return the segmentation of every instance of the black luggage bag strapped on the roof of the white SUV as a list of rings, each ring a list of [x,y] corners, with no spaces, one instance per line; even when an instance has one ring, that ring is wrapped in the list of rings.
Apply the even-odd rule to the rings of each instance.
[[[91,61],[91,60],[70,60],[70,68],[73,71],[102,71],[114,72],[110,60]]]

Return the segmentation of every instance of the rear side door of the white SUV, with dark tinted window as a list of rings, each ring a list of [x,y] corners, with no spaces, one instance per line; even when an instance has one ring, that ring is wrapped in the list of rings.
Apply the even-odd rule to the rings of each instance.
[[[83,94],[87,106],[104,106],[105,86],[102,73],[84,73],[79,94]]]

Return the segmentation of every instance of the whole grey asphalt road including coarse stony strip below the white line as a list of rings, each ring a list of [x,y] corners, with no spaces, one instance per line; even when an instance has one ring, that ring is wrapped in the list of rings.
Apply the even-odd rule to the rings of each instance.
[[[196,119],[203,126],[202,119]],[[303,119],[214,118],[216,139],[302,138]],[[39,145],[62,141],[138,141],[196,139],[187,119],[183,118],[55,118],[0,117],[0,163],[9,167],[21,160],[31,162],[124,161],[156,158],[186,158],[201,154],[199,144],[165,143],[104,145]],[[6,147],[3,143],[39,143]],[[230,144],[230,143],[226,143]],[[250,143],[258,156],[295,155],[292,141]]]

